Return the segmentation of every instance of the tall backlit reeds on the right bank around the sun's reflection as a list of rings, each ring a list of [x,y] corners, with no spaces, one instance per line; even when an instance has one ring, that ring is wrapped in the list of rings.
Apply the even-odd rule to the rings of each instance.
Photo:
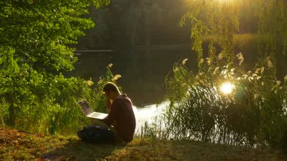
[[[156,122],[143,127],[142,136],[250,147],[284,145],[287,77],[277,81],[272,66],[245,71],[242,55],[237,58],[237,64],[218,60],[217,67],[202,61],[198,74],[186,68],[186,60],[175,64],[166,80],[169,105]],[[230,94],[222,92],[226,82],[233,84]]]

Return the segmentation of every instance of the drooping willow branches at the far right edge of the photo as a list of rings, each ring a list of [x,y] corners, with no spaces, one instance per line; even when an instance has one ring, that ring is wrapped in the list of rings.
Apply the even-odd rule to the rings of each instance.
[[[257,0],[257,3],[258,34],[268,36],[268,41],[258,40],[258,65],[266,64],[267,57],[276,65],[275,52],[279,49],[280,54],[287,53],[287,3],[285,0]]]

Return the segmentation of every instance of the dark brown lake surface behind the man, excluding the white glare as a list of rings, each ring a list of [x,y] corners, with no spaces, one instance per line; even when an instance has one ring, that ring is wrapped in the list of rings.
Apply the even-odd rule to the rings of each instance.
[[[113,64],[113,74],[120,74],[118,85],[132,99],[133,104],[142,108],[155,102],[164,101],[164,78],[174,63],[188,58],[189,68],[197,70],[196,55],[189,48],[181,50],[119,50],[108,53],[83,53],[78,55],[76,70],[72,76],[98,81],[105,74],[106,66]]]

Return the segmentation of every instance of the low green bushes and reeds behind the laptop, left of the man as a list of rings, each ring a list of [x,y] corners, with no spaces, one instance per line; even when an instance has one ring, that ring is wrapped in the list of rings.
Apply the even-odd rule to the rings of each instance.
[[[115,82],[120,77],[113,76],[110,67],[111,65],[107,67],[107,73],[95,85],[91,80],[65,78],[63,75],[50,80],[51,76],[46,78],[43,75],[36,75],[33,71],[24,71],[23,68],[18,74],[13,74],[16,77],[8,77],[4,75],[7,73],[3,72],[0,80],[3,82],[0,96],[15,99],[11,106],[2,98],[1,124],[9,126],[7,124],[9,117],[13,116],[14,128],[51,134],[55,132],[69,134],[82,126],[87,126],[89,119],[84,116],[76,102],[86,98],[94,111],[107,113],[106,98],[102,93],[103,86],[108,81]],[[33,86],[29,86],[29,81],[26,81],[27,77],[32,77],[31,75],[34,78]],[[10,88],[11,86],[13,88]],[[14,108],[14,115],[9,114],[11,108]]]

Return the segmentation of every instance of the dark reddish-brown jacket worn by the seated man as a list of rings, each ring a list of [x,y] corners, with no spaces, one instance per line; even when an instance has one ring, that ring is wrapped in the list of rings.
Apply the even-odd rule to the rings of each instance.
[[[108,116],[103,121],[108,126],[111,126],[115,121],[117,136],[125,142],[133,140],[136,119],[132,109],[132,102],[126,94],[120,95],[113,100]]]

